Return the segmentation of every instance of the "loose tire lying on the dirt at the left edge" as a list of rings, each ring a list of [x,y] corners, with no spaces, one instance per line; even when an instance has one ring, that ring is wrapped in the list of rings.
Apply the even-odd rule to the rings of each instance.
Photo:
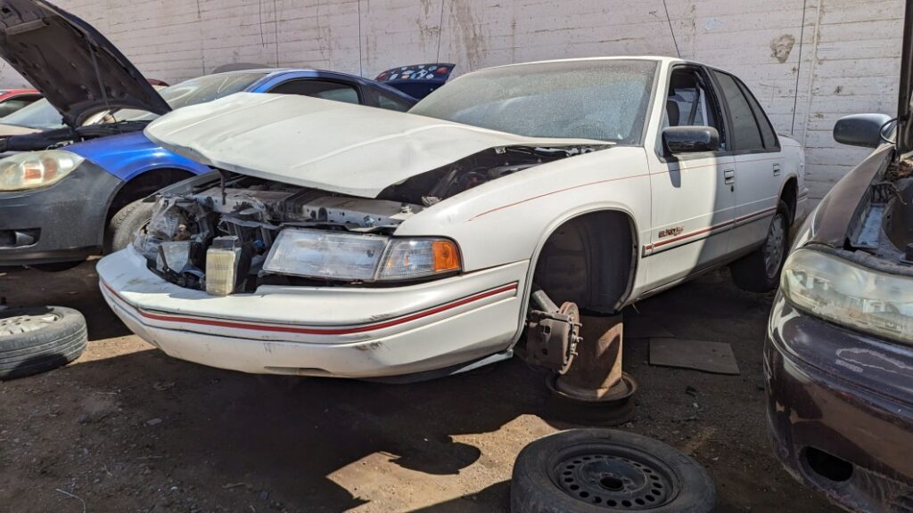
[[[0,311],[0,381],[66,365],[79,358],[87,340],[86,319],[74,309]]]

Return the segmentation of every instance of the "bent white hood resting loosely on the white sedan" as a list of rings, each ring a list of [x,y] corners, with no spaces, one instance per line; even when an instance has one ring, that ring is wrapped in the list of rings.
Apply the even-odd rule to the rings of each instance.
[[[328,99],[236,93],[146,127],[180,155],[226,171],[376,197],[395,183],[491,148],[611,144],[541,139]]]

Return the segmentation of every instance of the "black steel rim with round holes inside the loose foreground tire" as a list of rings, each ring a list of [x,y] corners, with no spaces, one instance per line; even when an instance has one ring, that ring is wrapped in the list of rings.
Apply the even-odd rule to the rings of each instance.
[[[678,493],[675,473],[634,447],[579,447],[553,466],[552,479],[565,494],[602,508],[631,511],[665,505]]]

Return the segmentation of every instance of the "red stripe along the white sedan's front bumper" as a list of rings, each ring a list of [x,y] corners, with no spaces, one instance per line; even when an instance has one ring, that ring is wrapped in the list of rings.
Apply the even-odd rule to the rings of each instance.
[[[303,335],[350,335],[353,333],[364,333],[366,331],[375,331],[383,330],[385,328],[391,328],[394,326],[399,326],[406,322],[411,322],[417,319],[424,319],[435,315],[437,313],[444,312],[449,309],[456,309],[463,305],[479,301],[481,299],[490,298],[492,296],[497,296],[498,294],[516,291],[519,288],[518,283],[511,283],[503,287],[492,288],[491,290],[486,290],[485,292],[479,292],[478,294],[468,296],[467,298],[457,299],[456,301],[451,301],[443,305],[415,312],[413,314],[406,315],[404,317],[399,317],[396,319],[385,320],[383,322],[377,322],[374,324],[365,324],[361,326],[352,326],[348,328],[299,328],[295,326],[272,326],[268,324],[257,324],[257,323],[244,323],[244,322],[233,322],[227,320],[217,320],[217,319],[197,319],[191,317],[178,317],[171,315],[163,315],[145,311],[143,309],[138,309],[131,305],[130,301],[122,298],[113,288],[110,288],[110,285],[101,282],[101,285],[104,288],[107,288],[111,294],[116,298],[120,299],[123,303],[130,305],[131,308],[135,309],[142,317],[146,319],[154,320],[163,320],[165,322],[184,322],[186,324],[198,324],[201,326],[215,326],[218,328],[233,328],[236,330],[258,330],[258,331],[271,331],[271,332],[281,332],[281,333],[298,333]]]

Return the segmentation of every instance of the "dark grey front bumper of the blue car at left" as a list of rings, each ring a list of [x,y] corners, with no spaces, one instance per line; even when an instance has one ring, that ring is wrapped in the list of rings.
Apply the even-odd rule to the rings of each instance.
[[[82,260],[100,252],[121,180],[85,161],[58,183],[0,193],[0,267]]]

